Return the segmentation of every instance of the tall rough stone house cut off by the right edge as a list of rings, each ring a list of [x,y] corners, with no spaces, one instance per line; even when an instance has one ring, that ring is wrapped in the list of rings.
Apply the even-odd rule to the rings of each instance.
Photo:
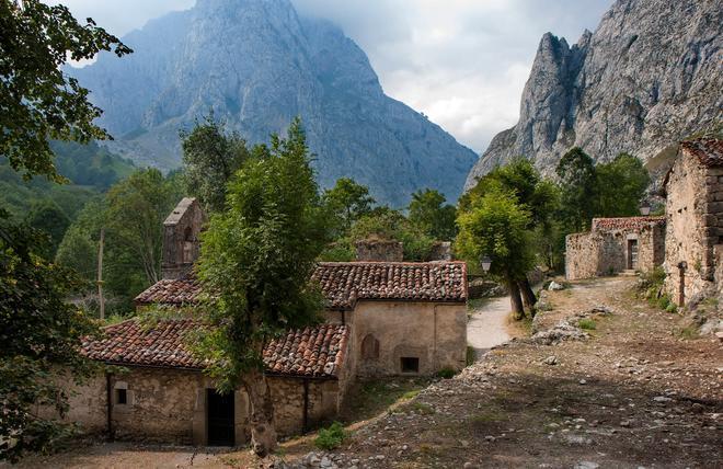
[[[664,185],[666,293],[723,300],[723,140],[684,141]]]

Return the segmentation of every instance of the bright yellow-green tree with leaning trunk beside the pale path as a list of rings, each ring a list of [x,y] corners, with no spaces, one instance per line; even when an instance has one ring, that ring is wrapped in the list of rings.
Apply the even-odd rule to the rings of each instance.
[[[457,217],[457,251],[477,264],[490,256],[490,274],[500,277],[509,291],[510,306],[517,319],[525,316],[519,282],[535,265],[528,227],[532,216],[515,195],[500,187],[484,194],[472,194]]]

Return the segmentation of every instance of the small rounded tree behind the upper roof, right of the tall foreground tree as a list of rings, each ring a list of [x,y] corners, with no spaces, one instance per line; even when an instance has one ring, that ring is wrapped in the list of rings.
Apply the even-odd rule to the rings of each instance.
[[[358,184],[351,178],[336,180],[334,187],[324,191],[324,204],[337,220],[338,232],[346,233],[363,216],[371,211],[375,204],[369,187]]]

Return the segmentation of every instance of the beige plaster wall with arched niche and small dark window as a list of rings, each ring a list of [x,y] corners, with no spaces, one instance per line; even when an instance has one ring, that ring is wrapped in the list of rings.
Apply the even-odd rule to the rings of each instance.
[[[464,304],[359,301],[352,314],[357,376],[400,375],[401,357],[418,357],[421,375],[464,367]]]

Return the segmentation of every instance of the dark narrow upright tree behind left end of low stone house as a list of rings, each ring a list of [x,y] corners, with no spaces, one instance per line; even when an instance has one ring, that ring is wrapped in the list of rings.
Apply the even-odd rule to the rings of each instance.
[[[595,162],[581,148],[567,151],[555,169],[560,179],[561,216],[566,228],[582,231],[595,215],[597,181]]]

